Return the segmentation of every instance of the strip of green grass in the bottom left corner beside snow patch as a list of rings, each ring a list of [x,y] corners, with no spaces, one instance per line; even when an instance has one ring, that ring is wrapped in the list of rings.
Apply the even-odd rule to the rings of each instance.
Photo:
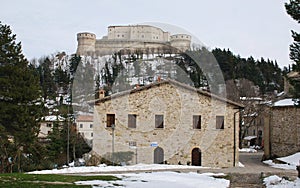
[[[86,185],[75,185],[76,181],[103,180],[115,181],[119,178],[115,176],[74,176],[74,175],[55,175],[55,174],[0,174],[0,187],[91,187]]]

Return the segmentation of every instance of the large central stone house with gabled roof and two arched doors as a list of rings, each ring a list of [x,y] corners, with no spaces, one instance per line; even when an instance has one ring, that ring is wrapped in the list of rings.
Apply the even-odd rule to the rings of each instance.
[[[174,80],[102,93],[95,102],[93,151],[128,164],[236,166],[241,108]]]

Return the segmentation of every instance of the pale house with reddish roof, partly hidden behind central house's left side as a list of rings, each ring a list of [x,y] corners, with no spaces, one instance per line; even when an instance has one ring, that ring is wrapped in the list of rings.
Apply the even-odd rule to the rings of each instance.
[[[91,143],[93,140],[93,116],[92,115],[79,115],[76,120],[76,130],[83,138]]]

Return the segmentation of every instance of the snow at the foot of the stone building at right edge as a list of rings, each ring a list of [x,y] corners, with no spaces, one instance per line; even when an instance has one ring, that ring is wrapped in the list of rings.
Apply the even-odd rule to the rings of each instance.
[[[290,156],[277,158],[277,160],[285,162],[286,164],[276,164],[272,160],[267,160],[263,162],[274,168],[296,170],[296,166],[300,165],[300,152]]]

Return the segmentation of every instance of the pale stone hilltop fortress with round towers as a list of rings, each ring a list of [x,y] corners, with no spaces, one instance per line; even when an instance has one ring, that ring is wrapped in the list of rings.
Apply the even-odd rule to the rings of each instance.
[[[150,25],[109,26],[102,39],[89,32],[77,34],[78,55],[110,55],[118,51],[131,53],[176,53],[190,49],[191,36],[170,35],[169,32]]]

